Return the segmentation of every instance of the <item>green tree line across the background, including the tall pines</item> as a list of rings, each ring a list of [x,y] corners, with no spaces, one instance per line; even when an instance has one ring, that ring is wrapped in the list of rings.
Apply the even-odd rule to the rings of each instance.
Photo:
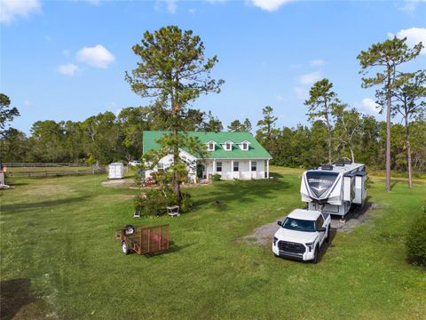
[[[377,87],[375,97],[386,121],[379,122],[339,99],[333,83],[321,79],[312,85],[304,101],[311,125],[278,128],[273,108],[262,109],[263,118],[256,123],[256,139],[272,155],[272,164],[305,167],[331,163],[347,157],[377,169],[386,169],[386,187],[390,189],[390,170],[426,172],[426,76],[424,70],[401,72],[399,67],[414,60],[422,43],[409,48],[406,39],[385,40],[361,51],[359,60],[365,88]],[[176,26],[146,31],[132,51],[138,56],[137,68],[126,72],[125,80],[133,92],[151,99],[147,107],[123,108],[118,116],[112,112],[91,116],[83,122],[37,121],[30,135],[8,127],[17,108],[1,95],[1,154],[4,162],[88,162],[107,164],[116,160],[139,159],[142,132],[167,130],[161,152],[151,155],[155,163],[162,153],[172,153],[171,184],[179,196],[180,178],[185,165],[178,158],[179,148],[202,153],[188,131],[219,132],[224,125],[211,112],[190,108],[201,94],[220,92],[224,80],[210,77],[217,56],[206,58],[204,45],[191,30]],[[375,76],[368,77],[368,73]],[[402,116],[403,124],[391,118]],[[7,127],[7,128],[6,128]],[[248,118],[233,120],[229,131],[253,131]]]

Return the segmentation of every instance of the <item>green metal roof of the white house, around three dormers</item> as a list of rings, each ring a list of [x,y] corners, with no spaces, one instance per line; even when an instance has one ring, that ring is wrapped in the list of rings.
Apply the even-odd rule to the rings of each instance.
[[[160,145],[156,140],[162,138],[165,131],[144,131],[143,134],[143,152],[148,150],[156,150]],[[208,159],[237,159],[237,158],[272,158],[272,156],[257,142],[250,132],[186,132],[190,137],[198,137],[203,143],[210,140],[216,142],[215,151],[207,151]],[[233,141],[233,149],[225,151],[221,143],[227,140]],[[250,144],[248,150],[244,151],[236,145],[237,143],[247,140]]]

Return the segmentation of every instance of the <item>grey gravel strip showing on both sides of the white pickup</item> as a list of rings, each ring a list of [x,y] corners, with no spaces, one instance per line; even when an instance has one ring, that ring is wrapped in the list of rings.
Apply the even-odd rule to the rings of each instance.
[[[353,228],[362,223],[367,223],[370,214],[375,209],[379,208],[380,206],[378,204],[367,203],[362,209],[355,209],[346,214],[344,222],[340,220],[339,217],[332,216],[331,228],[337,232],[351,233]],[[282,221],[284,219],[285,217],[256,228],[251,235],[243,236],[240,241],[256,245],[270,244],[272,242],[272,236],[280,228],[280,226],[277,225],[277,221]]]

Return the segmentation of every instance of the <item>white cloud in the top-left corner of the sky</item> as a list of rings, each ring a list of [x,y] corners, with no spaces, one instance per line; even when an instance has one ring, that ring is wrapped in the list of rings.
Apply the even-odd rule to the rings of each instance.
[[[39,0],[0,0],[0,23],[11,23],[19,16],[28,17],[40,8]]]

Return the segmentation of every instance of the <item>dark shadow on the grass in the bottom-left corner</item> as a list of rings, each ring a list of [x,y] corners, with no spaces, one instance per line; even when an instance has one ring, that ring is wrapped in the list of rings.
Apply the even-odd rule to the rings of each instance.
[[[0,318],[12,319],[20,308],[34,302],[36,298],[30,292],[29,279],[13,279],[0,283]]]

